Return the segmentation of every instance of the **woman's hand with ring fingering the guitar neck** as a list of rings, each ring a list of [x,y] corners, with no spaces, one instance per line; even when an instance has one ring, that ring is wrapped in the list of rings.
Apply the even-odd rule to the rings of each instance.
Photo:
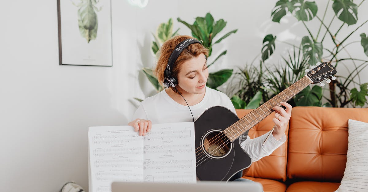
[[[287,124],[291,117],[291,105],[286,102],[280,103],[284,108],[275,106],[272,109],[275,110],[275,117],[272,119],[275,123],[275,130],[273,130],[272,135],[276,140],[280,140],[280,138],[284,135],[286,131]]]

